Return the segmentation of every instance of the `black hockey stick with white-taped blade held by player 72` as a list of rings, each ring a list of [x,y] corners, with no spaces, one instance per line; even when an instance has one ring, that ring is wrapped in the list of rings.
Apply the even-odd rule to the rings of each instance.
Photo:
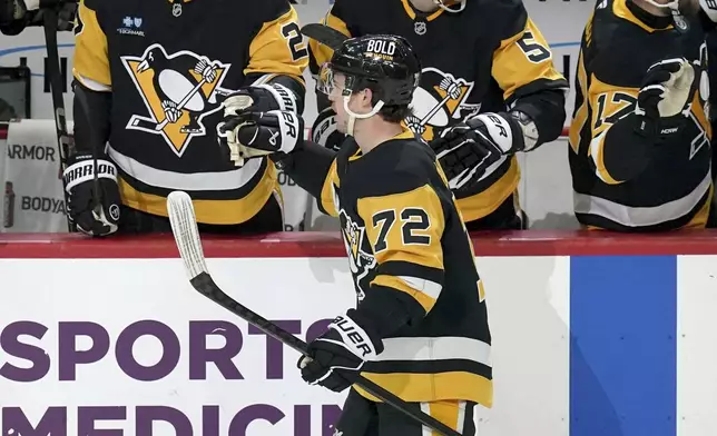
[[[257,327],[266,335],[275,338],[282,344],[293,348],[304,356],[308,356],[308,346],[291,333],[278,327],[276,324],[242,306],[238,301],[226,295],[214,281],[208,272],[207,265],[202,249],[202,240],[194,214],[191,199],[184,191],[174,191],[167,197],[167,211],[184,261],[185,270],[189,276],[191,286],[212,301],[224,307],[234,315],[243,318],[251,325]],[[407,403],[396,397],[389,390],[382,388],[365,377],[358,376],[356,385],[364,388],[369,394],[380,398],[384,403],[395,407],[399,412],[415,419],[422,425],[440,433],[443,436],[460,436],[461,434],[439,422],[434,417],[424,414],[420,409],[412,409]]]

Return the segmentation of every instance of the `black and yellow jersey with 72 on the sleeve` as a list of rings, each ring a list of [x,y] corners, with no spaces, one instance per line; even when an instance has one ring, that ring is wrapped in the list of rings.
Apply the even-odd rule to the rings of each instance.
[[[366,155],[348,137],[320,204],[338,217],[358,306],[406,293],[428,313],[383,340],[363,375],[406,402],[492,404],[491,336],[473,247],[430,148],[403,133]],[[362,395],[376,400],[367,393]]]

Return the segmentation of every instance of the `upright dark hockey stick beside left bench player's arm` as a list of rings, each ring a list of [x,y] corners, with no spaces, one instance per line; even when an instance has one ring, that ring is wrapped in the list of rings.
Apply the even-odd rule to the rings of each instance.
[[[49,1],[48,3],[50,3]],[[41,3],[45,7],[45,2]],[[62,181],[62,195],[65,196],[65,210],[67,217],[68,231],[75,231],[75,226],[70,221],[70,216],[67,212],[69,206],[69,195],[65,189],[65,181],[62,175],[67,169],[67,157],[73,152],[75,146],[67,132],[67,119],[65,118],[65,100],[62,97],[62,75],[60,72],[60,53],[57,46],[57,31],[58,31],[58,13],[55,6],[48,6],[42,10],[45,40],[47,44],[48,57],[48,75],[50,76],[50,92],[52,95],[52,106],[55,109],[55,127],[57,130],[57,145],[60,155],[60,174],[59,179]]]

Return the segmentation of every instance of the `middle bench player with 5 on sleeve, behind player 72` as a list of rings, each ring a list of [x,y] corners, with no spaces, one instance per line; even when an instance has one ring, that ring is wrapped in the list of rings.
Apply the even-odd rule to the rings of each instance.
[[[469,230],[527,227],[515,153],[560,136],[568,82],[522,1],[336,0],[322,22],[406,38],[423,72],[404,123],[431,141]],[[310,49],[316,73],[332,50]],[[325,109],[314,140],[334,147],[333,125]]]

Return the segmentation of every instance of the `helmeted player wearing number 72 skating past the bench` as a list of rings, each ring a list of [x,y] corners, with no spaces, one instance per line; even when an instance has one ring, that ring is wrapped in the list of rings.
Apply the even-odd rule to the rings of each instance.
[[[445,175],[401,123],[420,79],[420,61],[403,38],[350,39],[320,80],[338,130],[348,135],[338,152],[293,135],[303,123],[295,113],[246,112],[232,99],[225,137],[246,155],[273,153],[341,220],[358,303],[310,344],[302,377],[342,392],[361,373],[473,435],[474,405],[492,404],[491,336],[473,248]],[[353,387],[334,434],[425,432]]]

